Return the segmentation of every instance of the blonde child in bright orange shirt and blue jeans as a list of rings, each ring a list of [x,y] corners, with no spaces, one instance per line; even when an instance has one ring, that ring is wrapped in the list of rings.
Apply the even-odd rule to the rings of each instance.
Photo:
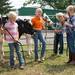
[[[33,29],[36,31],[34,35],[34,52],[35,52],[35,61],[43,61],[45,58],[45,51],[46,51],[46,42],[42,35],[42,30],[45,28],[44,20],[42,17],[42,9],[37,8],[35,12],[35,16],[32,18]],[[42,43],[42,51],[41,56],[38,56],[38,40]],[[41,59],[40,59],[41,58]]]

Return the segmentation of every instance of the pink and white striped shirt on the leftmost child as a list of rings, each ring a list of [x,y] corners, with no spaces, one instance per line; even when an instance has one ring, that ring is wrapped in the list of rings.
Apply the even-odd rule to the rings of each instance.
[[[11,35],[16,38],[18,36],[18,24],[17,23],[11,23],[10,21],[8,21],[5,24],[5,28],[11,33]],[[13,43],[14,39],[11,37],[11,35],[7,32],[6,33],[6,41],[8,43]]]

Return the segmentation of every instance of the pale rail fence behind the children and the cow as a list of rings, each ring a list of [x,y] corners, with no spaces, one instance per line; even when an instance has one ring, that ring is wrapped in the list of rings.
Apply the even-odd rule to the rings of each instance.
[[[43,30],[42,31],[43,37],[46,40],[46,50],[53,50],[53,44],[54,44],[54,32],[52,30]],[[26,43],[26,35],[23,35],[20,40],[22,43],[22,46],[24,47],[24,51],[27,51],[27,43]],[[32,50],[34,50],[34,41],[31,36],[29,36],[29,43]],[[39,42],[39,47],[41,46]],[[7,43],[4,44],[4,47],[8,47]],[[64,33],[64,48],[67,49],[67,42],[66,42],[66,33]],[[5,50],[8,52],[9,50]]]

